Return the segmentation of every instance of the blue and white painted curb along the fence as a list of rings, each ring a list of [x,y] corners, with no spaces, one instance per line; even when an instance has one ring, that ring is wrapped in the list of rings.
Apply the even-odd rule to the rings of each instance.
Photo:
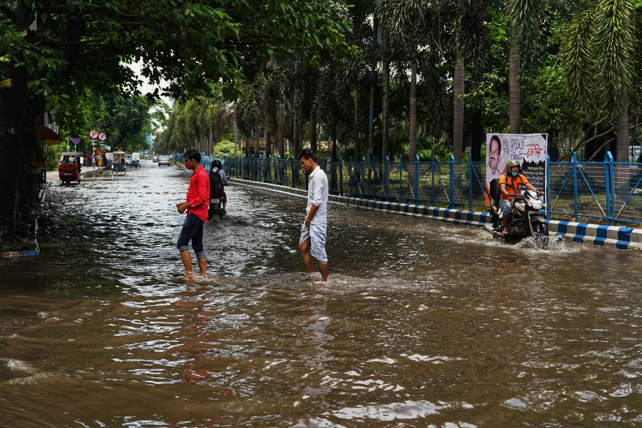
[[[284,185],[253,182],[241,180],[240,178],[228,178],[230,184],[253,187],[268,193],[287,194],[308,197],[308,191],[295,189]],[[352,205],[374,211],[390,212],[392,214],[403,214],[431,218],[435,220],[451,221],[452,223],[483,226],[492,222],[488,212],[456,210],[438,207],[426,207],[425,205],[413,205],[410,203],[394,203],[375,201],[371,199],[349,198],[331,194],[329,202]],[[575,223],[574,221],[549,220],[548,234],[559,236],[571,243],[585,243],[599,246],[608,246],[620,250],[642,250],[642,229],[630,227],[591,225],[589,223]]]

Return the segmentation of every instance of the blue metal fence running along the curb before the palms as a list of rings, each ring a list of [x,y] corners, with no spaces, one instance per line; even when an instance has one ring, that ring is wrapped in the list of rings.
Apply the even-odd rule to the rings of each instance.
[[[208,168],[213,158],[204,157]],[[182,158],[179,157],[179,162]],[[306,189],[308,174],[298,160],[278,157],[226,157],[228,176]],[[318,162],[328,176],[333,194],[384,201],[399,201],[451,209],[485,210],[485,162],[370,162],[365,158]],[[601,219],[642,223],[642,165],[613,162],[547,161],[546,214],[575,221]],[[593,219],[593,220],[591,220]]]

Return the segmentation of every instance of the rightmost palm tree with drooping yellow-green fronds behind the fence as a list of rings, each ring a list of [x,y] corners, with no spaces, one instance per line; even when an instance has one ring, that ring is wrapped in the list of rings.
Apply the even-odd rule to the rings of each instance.
[[[589,117],[617,117],[617,162],[629,162],[629,100],[640,93],[642,11],[631,1],[587,0],[561,49],[569,96]]]

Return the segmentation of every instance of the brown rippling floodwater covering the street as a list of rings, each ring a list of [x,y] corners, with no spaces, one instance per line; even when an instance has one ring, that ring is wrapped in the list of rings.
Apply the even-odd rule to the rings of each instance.
[[[229,187],[180,284],[189,173],[143,162],[48,193],[0,261],[2,427],[642,425],[639,252],[505,247],[478,228]]]

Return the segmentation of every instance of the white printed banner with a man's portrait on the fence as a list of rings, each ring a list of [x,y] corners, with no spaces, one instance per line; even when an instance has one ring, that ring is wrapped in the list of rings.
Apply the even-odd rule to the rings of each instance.
[[[490,182],[506,172],[510,159],[519,160],[520,173],[539,191],[546,191],[546,133],[486,134],[486,205],[490,205]],[[546,196],[544,196],[544,202]]]

